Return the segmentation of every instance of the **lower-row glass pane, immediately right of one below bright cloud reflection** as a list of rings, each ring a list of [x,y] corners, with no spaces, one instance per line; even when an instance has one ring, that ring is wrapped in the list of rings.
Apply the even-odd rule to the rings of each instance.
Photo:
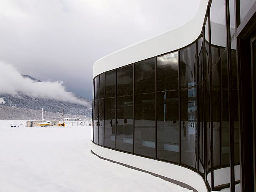
[[[180,94],[181,163],[196,169],[196,88],[183,89]]]

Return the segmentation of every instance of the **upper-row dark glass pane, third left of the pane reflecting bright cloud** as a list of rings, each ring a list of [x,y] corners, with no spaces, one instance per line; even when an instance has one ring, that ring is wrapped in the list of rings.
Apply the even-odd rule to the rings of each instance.
[[[105,73],[105,97],[116,96],[116,69]]]

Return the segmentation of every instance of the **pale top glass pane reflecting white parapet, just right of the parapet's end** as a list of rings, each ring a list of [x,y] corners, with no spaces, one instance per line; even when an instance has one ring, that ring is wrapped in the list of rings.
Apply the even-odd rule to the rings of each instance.
[[[212,44],[226,47],[225,0],[214,0],[211,5],[211,41]]]

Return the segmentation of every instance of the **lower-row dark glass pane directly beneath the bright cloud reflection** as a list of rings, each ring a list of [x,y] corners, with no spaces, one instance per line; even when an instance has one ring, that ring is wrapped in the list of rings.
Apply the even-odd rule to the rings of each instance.
[[[179,91],[157,93],[157,158],[179,162]]]

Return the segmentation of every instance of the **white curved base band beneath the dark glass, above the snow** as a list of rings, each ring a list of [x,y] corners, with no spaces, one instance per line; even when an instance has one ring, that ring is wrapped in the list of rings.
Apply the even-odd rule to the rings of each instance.
[[[91,145],[91,150],[98,156],[105,159],[171,178],[193,187],[198,192],[208,192],[206,185],[204,184],[204,179],[193,170],[168,162],[157,161],[155,159],[115,151],[94,143]]]

